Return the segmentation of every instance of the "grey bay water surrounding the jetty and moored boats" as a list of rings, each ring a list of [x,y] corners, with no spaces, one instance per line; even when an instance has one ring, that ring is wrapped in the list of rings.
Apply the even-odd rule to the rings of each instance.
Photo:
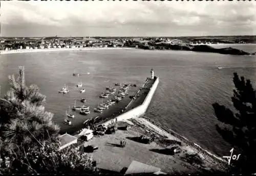
[[[255,51],[255,46],[239,45],[239,49],[244,47],[250,52]],[[256,81],[255,56],[127,49],[24,53],[0,57],[2,93],[9,89],[8,75],[17,73],[18,65],[25,65],[27,85],[36,84],[47,95],[46,109],[55,114],[54,121],[62,130],[69,128],[62,122],[65,111],[74,105],[74,99],[85,97],[87,105],[95,107],[105,86],[115,82],[140,86],[150,76],[153,67],[160,83],[146,116],[219,156],[226,155],[230,146],[215,129],[218,121],[211,105],[218,102],[232,107],[230,97],[234,71],[250,79],[253,86]],[[218,70],[218,66],[223,69]],[[90,75],[73,77],[74,69],[79,73],[90,72]],[[75,87],[80,80],[87,88],[85,94],[80,94]],[[69,86],[69,94],[58,93],[64,84]],[[133,88],[132,91],[136,90]],[[95,116],[94,112],[88,116],[76,113],[72,123],[81,124],[84,119]]]

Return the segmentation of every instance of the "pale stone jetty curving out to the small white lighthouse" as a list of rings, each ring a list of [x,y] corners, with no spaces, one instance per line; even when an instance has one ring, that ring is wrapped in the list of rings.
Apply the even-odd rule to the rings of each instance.
[[[152,82],[152,83],[148,83],[148,82]],[[157,89],[159,83],[159,77],[154,77],[154,80],[148,79],[146,80],[145,84],[143,84],[143,86],[140,88],[139,91],[142,91],[142,88],[145,87],[146,84],[152,84],[152,86],[150,85],[150,87],[148,87],[148,93],[146,94],[145,98],[142,99],[143,102],[140,104],[140,102],[136,102],[136,95],[139,93],[139,91],[136,93],[135,95],[135,99],[132,99],[131,102],[125,107],[126,111],[123,112],[122,114],[118,115],[115,117],[116,121],[122,121],[122,120],[127,120],[127,119],[131,119],[131,118],[136,118],[139,116],[142,116],[143,114],[145,114],[148,106],[151,103],[151,99]],[[133,104],[139,104],[136,107],[133,107]],[[114,119],[105,121],[103,123],[101,123],[102,125],[108,125],[114,122]]]

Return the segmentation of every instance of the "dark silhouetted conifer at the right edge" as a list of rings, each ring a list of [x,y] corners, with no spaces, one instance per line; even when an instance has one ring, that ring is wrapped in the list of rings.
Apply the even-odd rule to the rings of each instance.
[[[218,103],[213,104],[216,117],[226,127],[220,128],[216,125],[217,131],[222,137],[233,146],[242,150],[238,161],[232,160],[233,172],[255,173],[256,172],[256,91],[252,88],[250,80],[244,77],[239,78],[233,73],[233,83],[236,89],[233,90],[232,102],[237,112],[232,112],[225,106]]]

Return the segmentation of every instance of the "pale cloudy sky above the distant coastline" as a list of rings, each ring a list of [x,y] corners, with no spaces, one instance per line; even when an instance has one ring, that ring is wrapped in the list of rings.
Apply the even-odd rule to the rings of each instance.
[[[256,35],[256,1],[1,1],[2,37]]]

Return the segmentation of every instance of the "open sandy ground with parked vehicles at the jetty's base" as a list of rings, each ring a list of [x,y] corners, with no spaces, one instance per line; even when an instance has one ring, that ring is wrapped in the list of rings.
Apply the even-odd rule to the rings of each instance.
[[[97,167],[101,169],[120,172],[123,167],[129,167],[135,160],[148,165],[161,168],[162,172],[174,173],[198,173],[215,172],[225,170],[225,163],[217,158],[210,157],[197,148],[183,142],[176,136],[169,134],[157,125],[143,117],[124,120],[118,122],[119,127],[129,125],[129,130],[118,130],[115,134],[95,136],[92,140],[85,142],[85,145],[97,145],[99,149],[89,155],[97,162]],[[140,135],[155,137],[155,141],[150,144],[138,142],[136,139]],[[120,140],[126,141],[125,147],[120,147]],[[180,154],[169,155],[164,153],[165,148],[179,145],[182,148]],[[187,155],[197,155],[202,161],[187,161]]]

